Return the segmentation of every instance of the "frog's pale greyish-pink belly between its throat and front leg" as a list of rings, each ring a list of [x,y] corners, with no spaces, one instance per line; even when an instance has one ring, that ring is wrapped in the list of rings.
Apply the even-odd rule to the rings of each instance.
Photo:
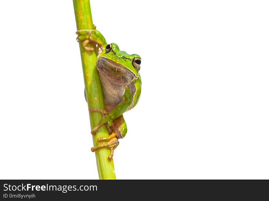
[[[99,73],[99,75],[103,88],[105,107],[109,112],[122,102],[127,83],[120,77],[106,77],[102,73]]]

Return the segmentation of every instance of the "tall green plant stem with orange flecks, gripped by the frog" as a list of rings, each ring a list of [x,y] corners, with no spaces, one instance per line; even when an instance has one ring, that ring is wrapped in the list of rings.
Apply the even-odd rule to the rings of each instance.
[[[91,17],[90,1],[89,0],[73,0],[74,11],[76,17],[77,30],[93,29],[93,21]],[[94,45],[91,45],[94,47]],[[96,68],[96,48],[94,51],[87,51],[79,42],[79,49],[82,61],[83,77],[85,83],[85,91],[88,102],[88,108],[105,108],[102,86]],[[100,121],[102,114],[98,112],[89,113],[90,126],[93,129]],[[90,132],[89,132],[90,133]],[[98,132],[93,136],[94,146],[98,145],[96,139],[98,137],[107,137],[109,132],[105,125],[98,129]],[[103,148],[95,151],[96,164],[99,174],[99,179],[116,179],[113,161],[107,159],[110,154],[109,148]]]

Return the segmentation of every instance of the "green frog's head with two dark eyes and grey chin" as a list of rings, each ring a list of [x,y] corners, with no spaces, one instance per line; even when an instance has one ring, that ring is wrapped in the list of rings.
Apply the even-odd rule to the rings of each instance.
[[[109,70],[112,74],[122,76],[127,83],[138,78],[141,57],[120,51],[115,43],[108,44],[98,56],[98,70]]]

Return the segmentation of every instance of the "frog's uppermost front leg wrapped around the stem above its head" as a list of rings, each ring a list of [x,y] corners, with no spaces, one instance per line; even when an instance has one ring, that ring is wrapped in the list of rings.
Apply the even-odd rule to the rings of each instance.
[[[78,35],[77,41],[83,41],[82,46],[88,51],[94,50],[93,47],[88,47],[90,43],[97,45],[101,50],[107,45],[104,36],[96,29],[78,30],[76,34]]]

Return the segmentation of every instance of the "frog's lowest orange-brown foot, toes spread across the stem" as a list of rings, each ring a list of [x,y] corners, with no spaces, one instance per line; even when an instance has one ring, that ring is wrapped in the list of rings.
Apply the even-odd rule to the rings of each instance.
[[[101,142],[101,141],[107,141],[109,140],[108,142],[106,143],[103,143],[103,144],[99,144],[98,146],[96,147],[92,147],[91,148],[91,151],[94,152],[98,149],[101,149],[101,148],[110,148],[111,150],[111,153],[109,154],[108,156],[108,159],[109,160],[112,160],[113,159],[113,154],[114,154],[114,150],[116,149],[116,147],[119,145],[119,141],[118,141],[118,138],[116,137],[116,134],[115,133],[112,133],[110,136],[108,137],[103,137],[103,138],[97,138],[97,141],[98,142]]]

